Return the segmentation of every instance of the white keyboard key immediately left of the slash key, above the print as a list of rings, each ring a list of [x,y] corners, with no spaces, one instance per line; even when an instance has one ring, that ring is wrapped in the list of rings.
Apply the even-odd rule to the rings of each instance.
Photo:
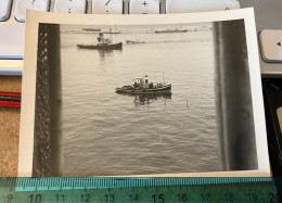
[[[86,0],[55,0],[54,12],[86,13]]]

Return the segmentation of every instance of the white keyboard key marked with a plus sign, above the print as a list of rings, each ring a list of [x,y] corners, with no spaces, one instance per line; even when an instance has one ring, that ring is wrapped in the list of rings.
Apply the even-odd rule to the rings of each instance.
[[[159,0],[130,0],[130,14],[159,14]]]

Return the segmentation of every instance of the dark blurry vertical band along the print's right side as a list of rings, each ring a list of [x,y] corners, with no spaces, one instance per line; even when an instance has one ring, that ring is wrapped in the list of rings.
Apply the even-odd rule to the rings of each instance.
[[[218,131],[226,170],[258,169],[244,20],[214,23]]]

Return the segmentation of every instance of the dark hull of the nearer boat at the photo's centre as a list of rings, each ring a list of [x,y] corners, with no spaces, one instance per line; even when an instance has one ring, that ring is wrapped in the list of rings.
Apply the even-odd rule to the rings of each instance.
[[[162,94],[171,92],[171,84],[165,85],[162,88],[152,89],[136,89],[130,87],[116,88],[116,92],[123,94]]]

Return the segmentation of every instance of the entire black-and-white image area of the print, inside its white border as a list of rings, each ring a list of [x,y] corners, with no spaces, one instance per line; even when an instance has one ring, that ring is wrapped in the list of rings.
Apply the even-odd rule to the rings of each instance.
[[[258,170],[245,36],[244,20],[40,23],[33,176]]]

